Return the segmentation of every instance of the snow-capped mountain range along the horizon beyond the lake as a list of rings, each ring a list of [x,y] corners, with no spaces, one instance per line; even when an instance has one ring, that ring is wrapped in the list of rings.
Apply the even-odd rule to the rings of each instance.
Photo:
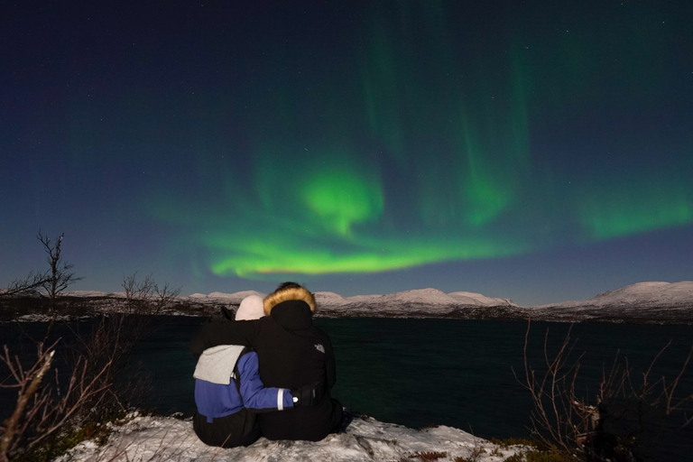
[[[88,310],[122,310],[125,294],[72,291],[66,296],[82,300]],[[264,297],[258,291],[235,293],[194,293],[178,297],[161,314],[209,315],[220,307],[234,308],[249,295]],[[550,321],[611,321],[693,324],[693,282],[639,282],[606,291],[587,300],[564,301],[550,305],[522,307],[509,299],[480,293],[437,289],[417,289],[387,294],[344,297],[335,292],[317,291],[316,316],[329,318],[452,318],[452,319],[531,319]],[[32,318],[33,319],[33,318]]]

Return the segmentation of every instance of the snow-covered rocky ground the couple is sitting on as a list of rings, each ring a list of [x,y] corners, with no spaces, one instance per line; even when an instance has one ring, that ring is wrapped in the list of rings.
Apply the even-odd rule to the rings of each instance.
[[[356,418],[346,432],[329,435],[318,442],[270,441],[261,438],[248,448],[210,448],[200,442],[191,420],[172,417],[134,417],[125,425],[114,426],[108,442],[98,447],[85,441],[54,462],[106,461],[406,461],[433,460],[417,457],[438,454],[439,461],[463,460],[480,452],[478,462],[501,462],[520,452],[521,447],[498,448],[485,439],[450,427],[411,430],[373,418]],[[476,451],[475,451],[476,450]]]

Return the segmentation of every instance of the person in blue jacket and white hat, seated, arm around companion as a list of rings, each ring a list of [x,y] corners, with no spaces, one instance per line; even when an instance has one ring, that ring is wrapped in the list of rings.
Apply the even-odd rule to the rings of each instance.
[[[263,299],[246,297],[236,320],[260,319]],[[282,411],[299,405],[291,390],[265,388],[258,373],[257,353],[237,345],[208,348],[195,368],[195,434],[209,446],[248,446],[262,436],[256,413]],[[300,396],[300,392],[294,392]]]

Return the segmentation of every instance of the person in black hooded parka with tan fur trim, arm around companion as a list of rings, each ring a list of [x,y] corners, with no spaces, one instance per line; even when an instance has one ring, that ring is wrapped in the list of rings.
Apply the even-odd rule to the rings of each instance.
[[[323,439],[337,429],[343,413],[329,393],[337,381],[332,343],[312,324],[315,297],[295,282],[284,282],[263,304],[264,318],[209,323],[195,333],[190,348],[199,355],[217,345],[253,347],[264,386],[310,390],[309,395],[297,397],[300,407],[260,414],[263,435],[267,439]]]

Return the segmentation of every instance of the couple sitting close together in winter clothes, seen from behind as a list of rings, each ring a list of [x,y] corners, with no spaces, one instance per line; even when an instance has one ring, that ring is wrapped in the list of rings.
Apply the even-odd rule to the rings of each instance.
[[[313,294],[284,282],[264,300],[244,299],[236,320],[199,328],[190,348],[200,355],[193,428],[202,442],[318,441],[337,429],[342,406],[329,394],[335,356],[328,335],[312,325],[313,311]]]

